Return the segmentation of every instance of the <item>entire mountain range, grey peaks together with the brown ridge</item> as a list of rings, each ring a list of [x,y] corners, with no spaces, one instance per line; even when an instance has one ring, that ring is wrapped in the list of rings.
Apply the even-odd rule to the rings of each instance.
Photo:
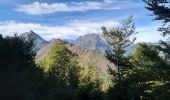
[[[86,34],[84,36],[80,36],[76,40],[52,39],[50,41],[46,41],[35,32],[29,31],[23,33],[20,37],[26,40],[29,38],[33,38],[35,40],[33,50],[37,53],[36,60],[41,60],[46,57],[50,53],[54,44],[62,41],[69,50],[79,56],[79,64],[81,66],[92,64],[99,67],[104,72],[106,72],[108,65],[113,66],[112,68],[114,68],[114,64],[110,63],[104,55],[105,50],[111,49],[111,46],[100,34]],[[127,48],[126,55],[132,54],[137,46],[138,44],[133,44]]]

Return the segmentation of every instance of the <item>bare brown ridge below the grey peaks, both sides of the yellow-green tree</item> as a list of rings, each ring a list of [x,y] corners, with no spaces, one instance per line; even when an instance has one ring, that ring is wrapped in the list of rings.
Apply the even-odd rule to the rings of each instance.
[[[53,39],[50,41],[49,44],[45,45],[43,48],[41,48],[37,52],[36,61],[41,61],[44,57],[48,56],[51,48],[55,45],[57,42],[63,42],[60,39]],[[106,57],[98,53],[94,50],[88,49],[88,48],[81,48],[78,45],[70,44],[67,42],[64,42],[65,46],[72,51],[73,53],[78,55],[78,62],[81,67],[87,66],[87,65],[93,65],[100,69],[100,71],[106,73],[108,69],[108,65],[112,68],[114,67],[114,64],[112,64],[109,60],[106,59]]]

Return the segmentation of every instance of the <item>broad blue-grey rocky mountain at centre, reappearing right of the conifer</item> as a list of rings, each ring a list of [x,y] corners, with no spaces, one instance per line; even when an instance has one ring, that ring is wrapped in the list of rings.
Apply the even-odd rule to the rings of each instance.
[[[84,36],[80,36],[77,40],[73,42],[73,44],[80,46],[82,48],[88,48],[91,50],[95,50],[99,53],[105,53],[105,50],[111,50],[112,47],[107,43],[105,38],[100,34],[86,34]],[[132,54],[138,44],[132,44],[130,47],[126,49],[126,54]]]

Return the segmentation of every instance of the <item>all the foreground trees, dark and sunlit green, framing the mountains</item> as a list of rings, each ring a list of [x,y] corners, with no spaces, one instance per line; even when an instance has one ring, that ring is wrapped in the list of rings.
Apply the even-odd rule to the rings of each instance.
[[[170,35],[170,4],[168,0],[144,0],[146,9],[159,20],[158,31],[164,38]],[[151,21],[152,22],[152,21]],[[108,76],[93,64],[79,66],[79,57],[64,42],[57,42],[48,56],[35,60],[34,39],[0,35],[0,100],[169,100],[170,43],[158,45],[140,43],[133,54],[126,48],[136,38],[133,17],[122,20],[120,26],[101,27],[102,35],[112,46],[106,58]]]

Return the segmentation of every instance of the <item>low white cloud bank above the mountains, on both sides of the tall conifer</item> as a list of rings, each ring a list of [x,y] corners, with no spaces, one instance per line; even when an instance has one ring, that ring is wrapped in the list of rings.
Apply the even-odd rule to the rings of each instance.
[[[113,27],[119,25],[117,21],[107,20],[105,22],[89,22],[89,21],[74,21],[73,23],[65,26],[49,26],[37,23],[19,23],[15,21],[0,22],[0,34],[12,36],[14,32],[19,35],[30,30],[35,31],[46,40],[52,38],[61,39],[75,39],[78,36],[87,33],[101,33],[100,27]],[[158,42],[162,38],[157,31],[158,26],[150,25],[145,27],[137,27],[139,32],[136,37],[136,42]]]

